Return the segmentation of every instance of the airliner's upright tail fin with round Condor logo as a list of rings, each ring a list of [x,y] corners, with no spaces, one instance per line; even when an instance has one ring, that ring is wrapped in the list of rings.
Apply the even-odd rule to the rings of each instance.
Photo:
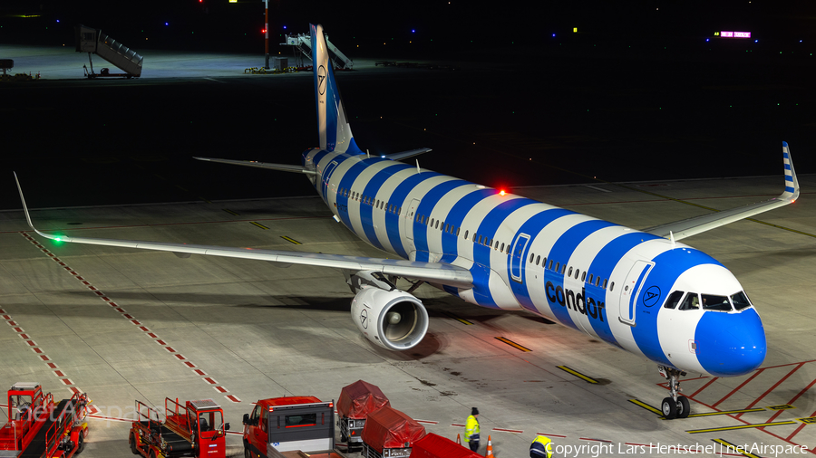
[[[335,82],[335,72],[329,60],[323,35],[323,26],[311,24],[312,66],[315,72],[315,97],[317,101],[317,129],[320,148],[326,151],[363,154],[355,145],[351,126],[345,118],[343,100]]]

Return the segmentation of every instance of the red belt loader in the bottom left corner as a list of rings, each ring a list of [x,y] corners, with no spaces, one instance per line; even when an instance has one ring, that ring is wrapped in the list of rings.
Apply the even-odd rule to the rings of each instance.
[[[18,382],[8,389],[8,423],[0,428],[0,456],[71,458],[81,453],[88,424],[88,395],[74,393],[54,404],[37,383]]]

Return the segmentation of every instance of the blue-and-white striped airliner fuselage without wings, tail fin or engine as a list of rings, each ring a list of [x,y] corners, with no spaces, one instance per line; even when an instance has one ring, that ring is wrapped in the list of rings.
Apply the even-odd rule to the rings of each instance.
[[[736,376],[763,362],[753,305],[664,306],[673,291],[727,298],[743,290],[720,262],[683,243],[383,157],[316,148],[303,161],[326,205],[365,242],[469,269],[473,288],[441,286],[464,301],[529,310],[687,372]]]

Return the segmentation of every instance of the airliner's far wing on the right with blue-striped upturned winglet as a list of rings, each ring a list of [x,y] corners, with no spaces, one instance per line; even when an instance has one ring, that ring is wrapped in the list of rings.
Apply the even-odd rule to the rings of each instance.
[[[785,191],[780,196],[756,204],[740,206],[713,214],[695,216],[694,218],[677,221],[675,223],[650,227],[644,229],[644,232],[666,238],[673,236],[675,240],[681,240],[685,239],[685,237],[704,233],[721,225],[758,215],[783,205],[792,204],[799,198],[799,180],[796,179],[796,172],[793,170],[791,151],[790,148],[788,148],[787,142],[782,142],[782,157],[784,158],[785,165]]]

